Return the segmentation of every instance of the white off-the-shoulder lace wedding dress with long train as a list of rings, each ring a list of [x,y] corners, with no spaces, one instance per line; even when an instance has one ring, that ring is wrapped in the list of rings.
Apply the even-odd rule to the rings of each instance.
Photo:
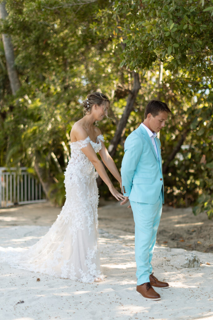
[[[95,168],[81,148],[101,150],[88,136],[71,143],[71,160],[65,171],[66,201],[48,233],[24,252],[0,248],[1,259],[11,266],[51,276],[90,283],[102,279],[98,249],[98,188]]]

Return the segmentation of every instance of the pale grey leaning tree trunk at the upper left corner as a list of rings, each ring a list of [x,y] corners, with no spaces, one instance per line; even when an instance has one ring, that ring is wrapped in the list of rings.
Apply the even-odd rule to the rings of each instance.
[[[4,20],[6,19],[7,15],[8,14],[5,9],[5,2],[2,2],[0,3],[0,18]],[[2,34],[2,40],[4,45],[4,54],[6,58],[7,74],[10,80],[10,87],[11,87],[12,94],[15,95],[15,93],[20,88],[20,83],[19,83],[17,70],[15,67],[13,45],[11,42],[11,38],[4,33]]]

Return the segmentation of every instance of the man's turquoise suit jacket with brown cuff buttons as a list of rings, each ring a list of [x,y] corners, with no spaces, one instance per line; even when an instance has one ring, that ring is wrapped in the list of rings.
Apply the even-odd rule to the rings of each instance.
[[[124,196],[128,196],[131,201],[155,204],[162,190],[162,183],[164,190],[160,140],[155,140],[159,160],[142,125],[126,138],[121,179]]]

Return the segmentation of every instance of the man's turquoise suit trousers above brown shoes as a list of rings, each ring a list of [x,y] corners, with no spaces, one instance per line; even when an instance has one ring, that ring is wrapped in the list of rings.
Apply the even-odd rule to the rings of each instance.
[[[137,285],[149,282],[152,273],[152,255],[159,226],[163,192],[160,192],[155,204],[146,204],[130,200],[135,222],[135,260],[137,264]]]

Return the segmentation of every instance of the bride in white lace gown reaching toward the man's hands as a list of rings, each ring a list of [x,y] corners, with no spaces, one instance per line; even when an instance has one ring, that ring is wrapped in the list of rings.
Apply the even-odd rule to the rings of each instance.
[[[66,201],[48,233],[36,244],[20,248],[0,248],[11,266],[51,276],[90,283],[103,280],[98,249],[98,188],[95,169],[119,201],[124,196],[112,185],[103,163],[121,185],[121,176],[110,157],[104,138],[94,125],[107,116],[109,99],[99,92],[83,101],[84,117],[71,130],[71,160],[65,171]]]

